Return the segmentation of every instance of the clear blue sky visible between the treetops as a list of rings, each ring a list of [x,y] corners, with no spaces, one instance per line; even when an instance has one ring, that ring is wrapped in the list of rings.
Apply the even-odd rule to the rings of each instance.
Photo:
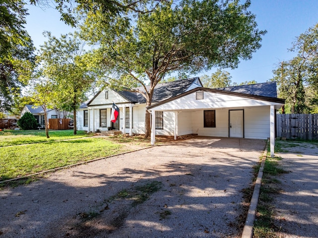
[[[280,61],[290,60],[295,53],[288,52],[296,37],[318,23],[318,0],[251,0],[249,10],[256,15],[258,29],[267,30],[261,42],[262,47],[253,54],[251,60],[241,61],[239,67],[224,69],[231,73],[233,82],[255,80],[259,83],[272,78],[272,70]],[[74,29],[60,21],[57,10],[30,6],[26,30],[36,48],[43,45],[43,31],[51,31],[54,36],[66,34]],[[197,75],[210,75],[216,69]]]

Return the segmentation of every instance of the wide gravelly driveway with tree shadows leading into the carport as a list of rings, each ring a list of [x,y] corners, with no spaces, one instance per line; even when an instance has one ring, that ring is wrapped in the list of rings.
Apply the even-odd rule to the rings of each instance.
[[[264,146],[194,137],[1,190],[0,237],[238,237],[241,189]]]

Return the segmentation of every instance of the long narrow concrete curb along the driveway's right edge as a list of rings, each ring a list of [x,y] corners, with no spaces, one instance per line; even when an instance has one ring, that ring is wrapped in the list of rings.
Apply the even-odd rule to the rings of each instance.
[[[264,165],[265,165],[265,160],[267,156],[267,145],[269,141],[267,140],[265,150],[262,156],[262,162],[260,164],[260,168],[258,171],[257,179],[255,182],[254,186],[254,191],[252,198],[250,200],[249,208],[248,208],[248,213],[245,221],[245,225],[243,228],[243,233],[241,238],[253,238],[253,225],[254,225],[254,220],[255,220],[255,214],[256,214],[256,207],[258,203],[258,197],[259,197],[259,191],[260,191],[260,186],[261,186],[261,181],[263,177],[263,170],[264,170]]]

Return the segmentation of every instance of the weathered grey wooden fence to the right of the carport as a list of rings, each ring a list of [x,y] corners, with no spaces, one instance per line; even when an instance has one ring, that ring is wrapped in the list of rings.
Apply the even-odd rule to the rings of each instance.
[[[318,139],[318,114],[277,114],[277,137]]]

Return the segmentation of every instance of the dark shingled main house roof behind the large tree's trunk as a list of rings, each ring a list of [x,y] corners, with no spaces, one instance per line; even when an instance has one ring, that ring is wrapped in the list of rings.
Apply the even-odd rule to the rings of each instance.
[[[178,96],[186,92],[191,84],[197,79],[199,79],[199,77],[157,84],[154,90],[152,102],[161,102],[163,100]],[[150,86],[146,86],[146,88],[148,90]],[[139,87],[138,89],[145,92],[145,89],[143,87]],[[119,91],[118,93],[130,102],[146,103],[146,99],[140,93],[132,93],[127,91]]]

